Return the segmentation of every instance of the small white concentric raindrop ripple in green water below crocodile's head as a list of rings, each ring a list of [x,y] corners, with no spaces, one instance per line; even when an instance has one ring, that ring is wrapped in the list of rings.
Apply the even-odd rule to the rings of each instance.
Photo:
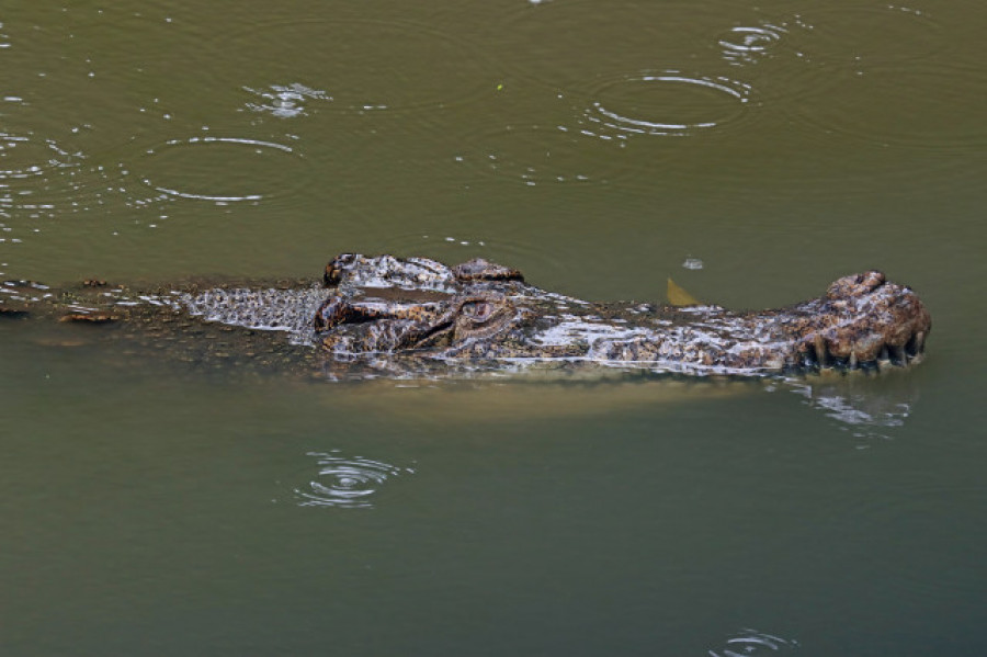
[[[308,456],[318,461],[319,471],[305,489],[295,489],[299,507],[368,509],[373,507],[371,498],[388,479],[415,473],[361,456],[349,458],[339,450],[309,452]]]

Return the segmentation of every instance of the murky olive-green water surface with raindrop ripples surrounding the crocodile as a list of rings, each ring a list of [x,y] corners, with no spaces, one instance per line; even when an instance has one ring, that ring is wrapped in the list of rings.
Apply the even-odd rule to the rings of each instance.
[[[342,384],[2,320],[3,655],[983,654],[977,3],[8,4],[3,277],[880,268],[935,327],[880,378]]]

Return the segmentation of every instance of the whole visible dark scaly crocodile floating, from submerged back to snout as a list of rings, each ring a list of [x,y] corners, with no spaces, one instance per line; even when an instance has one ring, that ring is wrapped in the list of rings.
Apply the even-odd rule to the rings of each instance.
[[[880,372],[922,360],[931,318],[880,271],[759,311],[717,305],[591,303],[527,283],[481,258],[333,258],[321,280],[190,282],[135,291],[89,280],[53,290],[9,281],[0,318],[46,316],[181,336],[188,360],[318,362],[332,378],[616,369],[687,375]],[[220,339],[216,339],[217,336]],[[207,340],[209,338],[211,340]],[[275,359],[276,360],[276,359]]]

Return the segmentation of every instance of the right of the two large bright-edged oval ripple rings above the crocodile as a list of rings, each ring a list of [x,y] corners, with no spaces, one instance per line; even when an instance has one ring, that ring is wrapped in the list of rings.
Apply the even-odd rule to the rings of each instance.
[[[749,84],[725,76],[640,71],[599,80],[579,123],[600,139],[688,136],[721,128],[750,106]]]

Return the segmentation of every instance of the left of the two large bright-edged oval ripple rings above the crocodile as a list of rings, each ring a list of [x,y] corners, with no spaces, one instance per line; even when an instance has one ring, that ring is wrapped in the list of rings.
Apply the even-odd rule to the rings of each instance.
[[[147,149],[137,166],[159,194],[216,204],[288,195],[309,178],[294,147],[246,137],[170,139]]]

